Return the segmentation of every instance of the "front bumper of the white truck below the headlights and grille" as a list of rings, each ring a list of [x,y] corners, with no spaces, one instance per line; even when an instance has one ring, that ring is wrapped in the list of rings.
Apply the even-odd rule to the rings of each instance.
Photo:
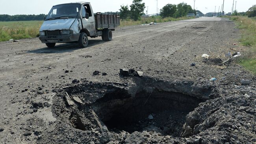
[[[78,41],[79,37],[80,33],[60,36],[39,36],[39,40],[41,40],[42,43],[69,43]]]

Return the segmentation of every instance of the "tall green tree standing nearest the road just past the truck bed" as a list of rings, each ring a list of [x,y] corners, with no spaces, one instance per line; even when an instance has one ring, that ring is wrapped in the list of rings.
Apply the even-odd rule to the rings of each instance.
[[[133,4],[130,5],[130,17],[137,21],[141,18],[144,9],[145,9],[145,3],[142,3],[142,0],[133,0]]]

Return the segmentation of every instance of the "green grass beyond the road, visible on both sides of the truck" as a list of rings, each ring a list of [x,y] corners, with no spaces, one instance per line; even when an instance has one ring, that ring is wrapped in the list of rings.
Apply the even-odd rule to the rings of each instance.
[[[150,22],[170,22],[177,20],[185,20],[182,18],[161,18],[160,16],[151,16],[142,18],[140,21],[122,20],[121,27],[128,25],[140,25]],[[0,41],[8,41],[10,39],[35,38],[39,36],[39,29],[43,21],[24,21],[24,22],[0,22]]]

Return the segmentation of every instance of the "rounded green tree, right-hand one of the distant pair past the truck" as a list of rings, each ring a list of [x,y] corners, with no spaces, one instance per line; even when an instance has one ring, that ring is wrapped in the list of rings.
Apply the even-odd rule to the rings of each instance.
[[[187,3],[180,3],[177,5],[177,11],[176,11],[176,17],[182,17],[186,16],[188,13],[195,13],[196,11],[192,9],[190,5],[187,5]]]

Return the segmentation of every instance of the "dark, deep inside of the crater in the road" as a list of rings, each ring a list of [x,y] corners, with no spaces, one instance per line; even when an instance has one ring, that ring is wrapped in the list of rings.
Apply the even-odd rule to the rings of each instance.
[[[153,90],[129,99],[99,101],[95,112],[110,131],[156,131],[179,137],[186,115],[201,102],[189,95]]]

